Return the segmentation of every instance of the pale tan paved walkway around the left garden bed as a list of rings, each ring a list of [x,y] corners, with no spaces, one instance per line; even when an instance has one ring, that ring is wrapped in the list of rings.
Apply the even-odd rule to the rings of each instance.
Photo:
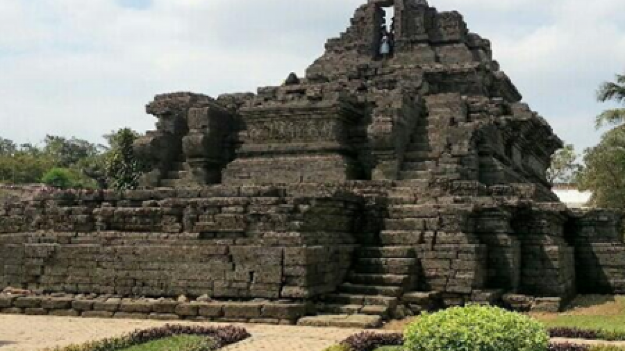
[[[165,324],[208,323],[0,315],[0,351],[35,351],[82,344]],[[360,331],[288,325],[247,324],[244,327],[252,337],[225,350],[321,351]]]

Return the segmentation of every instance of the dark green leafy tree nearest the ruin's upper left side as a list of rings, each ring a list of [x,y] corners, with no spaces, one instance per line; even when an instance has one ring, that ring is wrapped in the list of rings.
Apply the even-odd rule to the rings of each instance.
[[[105,137],[111,146],[105,156],[109,184],[117,190],[136,188],[139,178],[146,170],[143,162],[134,155],[133,144],[139,134],[132,129],[123,128]]]

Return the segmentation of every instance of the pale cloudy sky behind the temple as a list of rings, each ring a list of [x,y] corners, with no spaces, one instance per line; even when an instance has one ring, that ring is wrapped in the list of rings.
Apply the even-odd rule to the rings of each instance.
[[[0,137],[101,142],[154,128],[154,95],[218,96],[304,70],[365,0],[0,0]],[[296,4],[296,5],[294,5]],[[430,0],[491,39],[524,101],[577,151],[625,71],[625,1]]]

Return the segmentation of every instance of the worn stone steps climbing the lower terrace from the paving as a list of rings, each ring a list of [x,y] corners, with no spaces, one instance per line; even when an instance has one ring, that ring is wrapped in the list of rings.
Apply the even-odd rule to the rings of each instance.
[[[391,197],[394,206],[411,206],[414,188],[401,188]],[[384,221],[392,227],[396,219]],[[382,230],[364,235],[355,252],[352,269],[337,291],[317,304],[317,316],[299,320],[299,325],[373,328],[396,317],[402,297],[415,290],[419,276],[416,245],[421,236],[412,230]]]

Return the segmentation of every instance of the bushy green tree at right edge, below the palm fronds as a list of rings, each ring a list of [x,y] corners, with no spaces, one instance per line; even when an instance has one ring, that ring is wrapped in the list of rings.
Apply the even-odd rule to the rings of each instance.
[[[625,127],[604,134],[599,145],[584,152],[584,163],[577,184],[582,191],[592,191],[592,204],[625,209]]]

